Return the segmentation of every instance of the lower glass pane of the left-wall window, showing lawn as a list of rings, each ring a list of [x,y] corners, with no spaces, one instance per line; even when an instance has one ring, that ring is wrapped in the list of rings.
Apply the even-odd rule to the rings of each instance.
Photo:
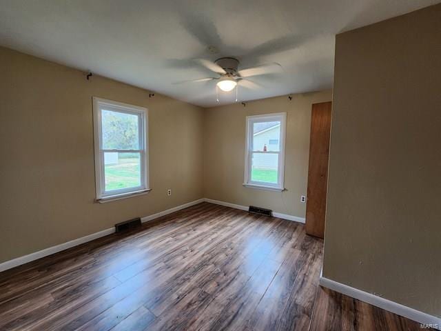
[[[104,153],[105,191],[141,186],[140,153]]]

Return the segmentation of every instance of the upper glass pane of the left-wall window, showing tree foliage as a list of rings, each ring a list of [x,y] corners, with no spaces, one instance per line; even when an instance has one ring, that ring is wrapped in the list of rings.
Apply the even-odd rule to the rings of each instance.
[[[103,150],[138,150],[139,149],[139,116],[101,111]]]

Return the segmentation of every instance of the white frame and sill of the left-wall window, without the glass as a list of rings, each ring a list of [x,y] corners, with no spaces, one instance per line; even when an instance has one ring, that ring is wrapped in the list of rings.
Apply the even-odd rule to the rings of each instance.
[[[122,112],[125,114],[134,114],[139,117],[139,149],[137,150],[104,150],[103,147],[103,131],[101,112],[102,110],[112,110],[114,112]],[[94,114],[94,152],[95,152],[95,187],[96,201],[106,202],[134,195],[145,194],[150,191],[149,188],[149,172],[148,172],[148,110],[147,108],[128,105],[117,101],[101,99],[93,97],[93,114]],[[104,153],[105,152],[136,152],[140,154],[141,163],[141,185],[134,188],[122,188],[120,190],[105,191],[104,177]]]

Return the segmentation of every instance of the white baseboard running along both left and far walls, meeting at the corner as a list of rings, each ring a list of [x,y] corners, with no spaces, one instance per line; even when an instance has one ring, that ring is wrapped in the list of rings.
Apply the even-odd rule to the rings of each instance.
[[[225,205],[230,208],[236,208],[236,209],[240,209],[240,210],[248,210],[248,207],[246,207],[245,205],[235,205],[234,203],[227,203],[227,202],[223,202],[223,201],[203,198],[203,199],[198,199],[195,201],[190,201],[188,203],[184,203],[183,205],[178,205],[174,208],[163,210],[162,212],[157,212],[156,214],[152,214],[150,216],[142,217],[141,222],[144,223],[147,221],[152,221],[153,219],[157,219],[158,217],[163,217],[167,214],[171,214],[172,212],[177,212],[178,210],[191,207],[192,205],[196,205],[196,204],[204,202],[204,201],[207,201],[209,203],[216,203],[217,205]],[[280,214],[278,212],[274,212],[273,214],[274,214],[274,217],[280,217],[280,219],[288,219],[290,221],[297,221],[297,222],[305,223],[305,219],[302,219],[301,217]],[[37,259],[41,259],[42,257],[47,257],[50,254],[55,254],[57,252],[61,252],[62,250],[67,250],[68,248],[72,248],[74,246],[81,245],[82,243],[87,243],[88,241],[92,241],[94,239],[98,239],[98,238],[107,236],[108,234],[112,234],[114,232],[115,232],[115,228],[108,228],[108,229],[105,229],[105,230],[102,230],[99,232],[88,234],[85,237],[74,239],[74,240],[68,241],[66,243],[61,243],[59,245],[54,245],[52,247],[45,248],[44,250],[39,250],[38,252],[24,255],[23,257],[17,257],[16,259],[5,261],[3,263],[0,263],[0,272],[2,272],[4,270],[8,270],[10,268],[17,267],[18,265],[22,265],[22,264],[25,264],[25,263],[28,263],[28,262],[31,262],[31,261],[34,261]]]

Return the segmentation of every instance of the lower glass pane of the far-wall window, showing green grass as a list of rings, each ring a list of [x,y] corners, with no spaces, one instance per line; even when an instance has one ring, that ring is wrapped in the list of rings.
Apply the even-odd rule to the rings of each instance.
[[[276,184],[278,181],[278,154],[253,153],[251,181]]]

